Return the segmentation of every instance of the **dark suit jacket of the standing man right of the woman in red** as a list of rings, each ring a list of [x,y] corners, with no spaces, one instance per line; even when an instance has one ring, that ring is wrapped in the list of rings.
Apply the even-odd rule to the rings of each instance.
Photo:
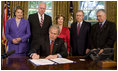
[[[85,55],[86,48],[88,47],[90,27],[90,23],[83,21],[79,36],[77,36],[77,22],[71,25],[70,39],[73,56]]]

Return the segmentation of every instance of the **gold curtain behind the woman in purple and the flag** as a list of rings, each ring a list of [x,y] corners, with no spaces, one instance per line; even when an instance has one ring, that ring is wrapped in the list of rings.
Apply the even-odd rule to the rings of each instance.
[[[3,14],[4,14],[4,3],[5,1],[1,2],[1,26],[3,26]],[[24,18],[27,19],[28,17],[28,1],[10,1],[10,15],[11,18],[14,17],[14,10],[16,6],[22,6],[24,10]]]

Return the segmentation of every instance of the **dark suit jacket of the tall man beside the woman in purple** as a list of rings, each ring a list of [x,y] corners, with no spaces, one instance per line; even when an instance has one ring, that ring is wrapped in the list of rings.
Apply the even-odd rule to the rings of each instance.
[[[28,20],[31,29],[30,47],[34,48],[34,45],[38,45],[40,43],[40,38],[48,37],[49,27],[52,25],[52,19],[50,16],[44,14],[44,23],[42,27],[40,26],[38,13],[29,15]],[[39,43],[36,44],[35,42]]]

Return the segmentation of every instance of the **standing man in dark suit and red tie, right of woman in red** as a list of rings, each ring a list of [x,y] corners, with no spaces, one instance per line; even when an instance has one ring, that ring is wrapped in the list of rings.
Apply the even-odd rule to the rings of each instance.
[[[70,39],[71,39],[71,47],[72,47],[72,55],[73,56],[84,56],[86,53],[86,48],[88,48],[88,39],[91,24],[85,22],[84,20],[84,12],[79,10],[76,13],[77,22],[71,25]]]

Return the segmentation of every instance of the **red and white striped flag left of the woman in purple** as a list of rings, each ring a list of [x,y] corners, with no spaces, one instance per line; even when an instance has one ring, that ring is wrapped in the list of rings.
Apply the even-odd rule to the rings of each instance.
[[[8,47],[8,41],[5,37],[5,26],[6,26],[6,22],[7,20],[10,19],[10,2],[9,1],[5,1],[4,4],[4,15],[3,15],[3,21],[4,24],[2,26],[2,44],[5,45],[5,49],[7,51],[7,47]]]

